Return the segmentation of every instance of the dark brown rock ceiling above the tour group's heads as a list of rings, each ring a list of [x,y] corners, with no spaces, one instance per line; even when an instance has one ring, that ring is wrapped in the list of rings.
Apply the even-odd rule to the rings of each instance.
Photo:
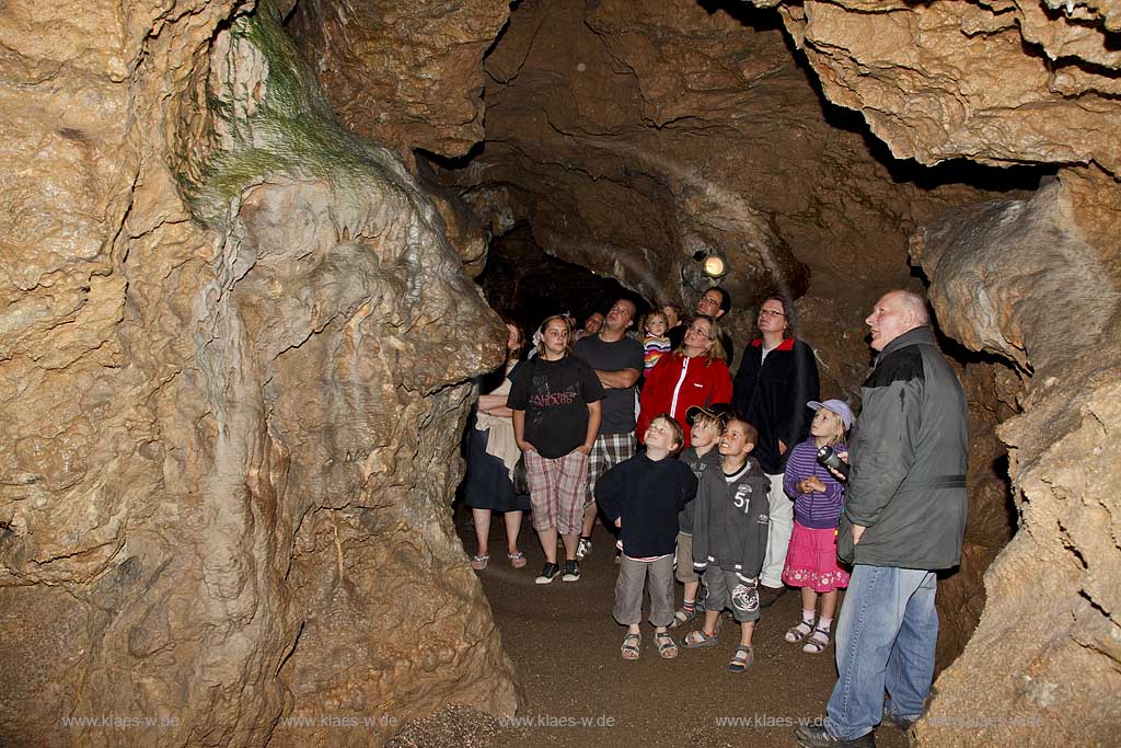
[[[1011,173],[993,190],[944,168],[919,184],[921,169],[895,161],[860,117],[825,102],[782,18],[738,2],[525,0],[508,19],[485,15],[489,28],[506,26],[489,47],[461,45],[481,65],[452,75],[480,98],[451,99],[464,121],[442,137],[413,132],[400,122],[446,99],[443,84],[417,89],[409,111],[385,99],[373,108],[346,71],[370,56],[379,73],[406,71],[418,55],[446,59],[436,50],[447,29],[482,35],[479,8],[420,6],[425,25],[401,50],[344,44],[381,38],[389,24],[362,31],[354,11],[345,24],[322,18],[303,39],[335,110],[353,129],[430,159],[491,233],[527,221],[546,251],[651,299],[691,305],[708,284],[693,258],[715,250],[730,260],[722,284],[739,307],[776,290],[802,296],[810,284],[816,296],[863,305],[877,288],[910,280],[906,238],[918,222],[1038,179]],[[417,52],[426,45],[433,52]],[[387,77],[398,89],[410,80]]]

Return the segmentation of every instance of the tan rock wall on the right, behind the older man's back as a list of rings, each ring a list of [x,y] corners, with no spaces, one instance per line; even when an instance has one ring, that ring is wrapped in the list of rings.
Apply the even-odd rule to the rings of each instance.
[[[1091,200],[1087,183],[1100,187]],[[946,329],[1025,378],[1022,413],[999,431],[1020,529],[985,574],[984,613],[936,684],[924,742],[1115,741],[1118,244],[1102,243],[1109,228],[1086,231],[1078,219],[1119,197],[1109,177],[1064,173],[1029,201],[948,213],[916,238]]]

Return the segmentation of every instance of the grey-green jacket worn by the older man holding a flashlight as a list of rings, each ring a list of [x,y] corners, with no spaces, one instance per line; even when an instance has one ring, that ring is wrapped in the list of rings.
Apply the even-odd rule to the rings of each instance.
[[[888,343],[861,391],[837,555],[871,566],[956,566],[965,532],[967,406],[930,329]],[[856,545],[852,525],[868,528]]]

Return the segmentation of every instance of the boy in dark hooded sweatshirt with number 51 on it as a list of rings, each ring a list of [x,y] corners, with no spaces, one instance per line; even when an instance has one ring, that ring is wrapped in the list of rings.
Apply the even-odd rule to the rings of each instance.
[[[756,659],[751,635],[759,620],[759,571],[767,553],[770,479],[748,456],[759,432],[740,417],[729,418],[720,437],[720,470],[701,475],[694,505],[693,566],[704,574],[708,602],[704,626],[682,644],[689,649],[716,644],[724,608],[740,622],[740,644],[728,669],[742,673]]]

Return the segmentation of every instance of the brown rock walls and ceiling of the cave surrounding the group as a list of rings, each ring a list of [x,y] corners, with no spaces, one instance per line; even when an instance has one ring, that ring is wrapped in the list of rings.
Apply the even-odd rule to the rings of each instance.
[[[797,299],[823,397],[883,292],[930,301],[970,509],[918,739],[1115,738],[1114,3],[81,4],[0,20],[0,742],[513,713],[450,508],[495,313],[689,310],[713,251],[739,348]]]

